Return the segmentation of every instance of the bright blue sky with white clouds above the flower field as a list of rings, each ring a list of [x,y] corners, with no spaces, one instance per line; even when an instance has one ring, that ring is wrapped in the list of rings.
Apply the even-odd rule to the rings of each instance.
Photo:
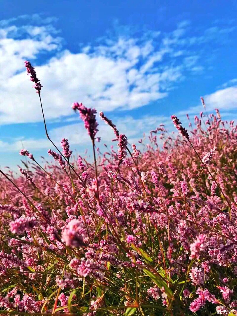
[[[72,102],[103,111],[137,142],[170,115],[187,124],[218,107],[236,116],[235,1],[0,1],[0,165],[18,152],[47,156],[38,95],[24,69],[41,79],[49,133],[83,154],[90,143]],[[99,119],[98,119],[99,120]],[[113,138],[99,122],[101,146]]]

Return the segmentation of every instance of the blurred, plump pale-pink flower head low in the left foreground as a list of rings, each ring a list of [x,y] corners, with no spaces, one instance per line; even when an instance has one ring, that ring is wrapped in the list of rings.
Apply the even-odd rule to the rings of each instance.
[[[78,234],[81,228],[81,222],[77,219],[73,219],[67,224],[62,234],[62,241],[65,242],[66,246],[76,248],[85,246],[82,236]]]

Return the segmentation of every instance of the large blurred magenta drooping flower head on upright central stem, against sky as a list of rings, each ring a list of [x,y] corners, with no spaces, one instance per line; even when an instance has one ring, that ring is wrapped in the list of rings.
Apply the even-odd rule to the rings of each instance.
[[[98,123],[95,119],[96,110],[85,107],[82,103],[75,102],[72,106],[73,110],[78,110],[80,118],[84,121],[84,125],[88,134],[92,140],[94,140],[95,134],[98,132]]]

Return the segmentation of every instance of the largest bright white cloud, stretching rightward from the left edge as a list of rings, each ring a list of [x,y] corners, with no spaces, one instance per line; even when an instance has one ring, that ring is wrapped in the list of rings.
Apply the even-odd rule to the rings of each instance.
[[[35,16],[37,19],[38,15]],[[16,27],[7,22],[2,25],[2,124],[41,120],[38,95],[31,90],[23,62],[30,59],[34,65],[42,52],[54,52],[55,55],[36,67],[43,84],[42,100],[47,119],[71,115],[71,103],[75,101],[96,107],[98,111],[144,106],[166,97],[186,71],[203,69],[197,65],[198,55],[183,49],[187,44],[182,40],[187,21],[170,34],[156,32],[144,35],[142,39],[107,39],[105,44],[82,47],[78,53],[62,50],[62,39],[51,25]]]

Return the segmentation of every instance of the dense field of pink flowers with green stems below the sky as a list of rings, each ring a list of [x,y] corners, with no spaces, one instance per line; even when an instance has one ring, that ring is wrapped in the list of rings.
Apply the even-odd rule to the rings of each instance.
[[[94,147],[96,111],[75,104]],[[237,126],[201,113],[188,134],[172,116],[182,135],[161,125],[138,150],[100,116],[118,150],[69,163],[63,139],[63,156],[49,150],[54,163],[42,166],[24,149],[22,176],[1,172],[0,310],[234,313]]]

